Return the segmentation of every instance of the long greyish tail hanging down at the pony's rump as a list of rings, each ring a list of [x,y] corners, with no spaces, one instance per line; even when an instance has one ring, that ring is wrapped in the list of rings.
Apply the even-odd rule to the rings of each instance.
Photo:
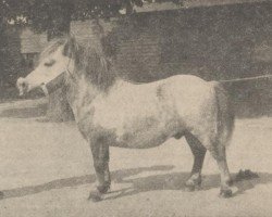
[[[222,84],[213,81],[218,107],[217,140],[221,145],[228,145],[234,129],[234,111],[227,91]]]

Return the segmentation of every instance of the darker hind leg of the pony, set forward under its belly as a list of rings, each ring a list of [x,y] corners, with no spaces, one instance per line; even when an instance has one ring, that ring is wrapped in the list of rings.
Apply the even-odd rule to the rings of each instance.
[[[186,181],[185,187],[186,187],[186,190],[194,191],[196,188],[200,187],[201,184],[201,169],[202,169],[207,149],[191,133],[189,132],[186,133],[185,138],[194,155],[194,165],[191,168],[190,177]]]

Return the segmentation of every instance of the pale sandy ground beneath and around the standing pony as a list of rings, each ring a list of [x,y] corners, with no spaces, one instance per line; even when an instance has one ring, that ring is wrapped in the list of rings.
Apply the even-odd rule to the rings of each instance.
[[[208,154],[202,189],[184,191],[193,157],[184,139],[149,150],[111,149],[112,193],[88,201],[95,175],[88,144],[75,124],[42,122],[44,100],[0,104],[1,217],[272,216],[272,118],[238,119],[227,150],[235,182],[219,197],[219,176]],[[120,191],[118,191],[120,190]],[[116,192],[114,192],[116,191]]]

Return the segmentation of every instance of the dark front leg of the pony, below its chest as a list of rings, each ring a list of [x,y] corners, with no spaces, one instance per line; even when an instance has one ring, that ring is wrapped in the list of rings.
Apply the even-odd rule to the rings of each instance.
[[[111,186],[110,170],[109,170],[109,145],[108,144],[92,144],[91,153],[94,158],[94,166],[96,170],[98,186],[97,189],[90,192],[89,197],[92,201],[100,201],[102,195],[108,192]]]

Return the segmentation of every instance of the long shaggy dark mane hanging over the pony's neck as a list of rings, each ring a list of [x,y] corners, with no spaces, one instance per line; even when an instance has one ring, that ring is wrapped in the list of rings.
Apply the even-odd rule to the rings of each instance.
[[[98,89],[106,91],[114,84],[116,78],[114,67],[94,41],[79,44],[75,38],[69,38],[64,44],[63,54],[74,59],[74,73],[84,73]]]

